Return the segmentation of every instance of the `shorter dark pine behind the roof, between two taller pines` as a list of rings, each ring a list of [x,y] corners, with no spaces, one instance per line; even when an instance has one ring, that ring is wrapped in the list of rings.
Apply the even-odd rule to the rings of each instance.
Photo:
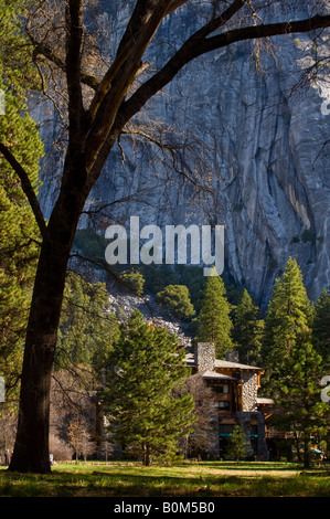
[[[232,333],[241,362],[252,366],[258,366],[260,362],[263,328],[264,321],[260,319],[259,309],[248,292],[244,289],[234,311]]]

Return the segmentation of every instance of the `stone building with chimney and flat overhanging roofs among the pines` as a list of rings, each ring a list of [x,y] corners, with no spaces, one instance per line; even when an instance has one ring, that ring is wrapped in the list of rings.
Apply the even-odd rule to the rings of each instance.
[[[237,351],[228,351],[225,360],[215,359],[214,345],[210,342],[199,342],[194,353],[187,356],[187,366],[193,374],[202,377],[214,394],[210,409],[209,456],[225,454],[227,438],[238,424],[245,431],[251,455],[268,459],[265,413],[272,400],[258,399],[257,394],[263,369],[241,364],[238,360]]]

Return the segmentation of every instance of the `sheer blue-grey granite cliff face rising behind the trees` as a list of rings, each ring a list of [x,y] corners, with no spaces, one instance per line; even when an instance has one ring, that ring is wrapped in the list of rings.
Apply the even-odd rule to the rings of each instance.
[[[109,10],[100,15],[109,54],[129,14],[129,2],[123,4],[116,25]],[[301,17],[306,14],[301,10]],[[187,27],[199,25],[195,18],[184,20]],[[184,31],[179,14],[164,21],[158,35],[160,47],[152,46],[147,59],[156,66],[160,57],[163,62],[169,42],[179,44],[174,35],[178,39]],[[183,182],[170,163],[162,162],[157,146],[123,137],[125,168],[116,147],[89,208],[124,200],[111,205],[111,216],[118,222],[140,215],[142,225],[224,224],[226,271],[259,304],[269,300],[288,256],[297,258],[309,296],[318,297],[330,285],[329,145],[323,146],[329,139],[330,114],[321,109],[327,92],[319,84],[294,88],[316,52],[311,44],[306,47],[309,38],[275,38],[268,52],[242,43],[205,55],[184,68],[139,116],[143,125],[163,121],[174,139],[204,142],[203,174],[212,177],[213,193],[201,191],[198,197],[192,183]],[[47,145],[56,124],[43,110],[36,106],[34,114],[42,120]],[[187,171],[193,171],[193,156],[188,148],[184,153]],[[44,161],[40,197],[46,216],[61,160],[50,150]],[[104,233],[111,223],[104,218],[97,229]],[[86,218],[82,225],[87,225]]]

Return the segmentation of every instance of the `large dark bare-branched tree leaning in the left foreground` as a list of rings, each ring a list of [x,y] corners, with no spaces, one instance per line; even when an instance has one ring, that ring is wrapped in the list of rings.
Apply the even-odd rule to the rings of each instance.
[[[63,74],[62,84],[66,88],[67,146],[61,188],[49,222],[43,219],[24,163],[12,153],[10,140],[1,136],[0,152],[21,179],[42,237],[25,338],[12,470],[50,470],[49,393],[67,262],[86,199],[127,124],[184,66],[205,53],[235,42],[323,30],[330,25],[327,2],[316,2],[309,18],[297,19],[296,1],[278,1],[277,15],[281,13],[281,21],[265,23],[263,14],[269,6],[272,8],[272,2],[136,0],[113,54],[115,57],[99,76],[88,70],[84,55],[87,28],[91,28],[84,24],[85,3],[83,0],[43,0],[32,9],[34,21],[40,15],[39,30],[33,31],[33,23],[29,28],[34,59],[47,61],[52,73]],[[260,3],[264,9],[258,7]],[[150,67],[150,74],[142,81],[139,74],[143,70],[143,56],[163,20],[174,14],[184,18],[193,8],[202,10],[205,6],[204,24],[183,44],[172,42],[172,56],[156,72]],[[57,14],[52,15],[52,8],[57,9],[57,28],[54,27]],[[47,27],[50,22],[52,27]],[[58,52],[62,35],[65,45],[63,52]],[[84,95],[86,89],[88,96]]]

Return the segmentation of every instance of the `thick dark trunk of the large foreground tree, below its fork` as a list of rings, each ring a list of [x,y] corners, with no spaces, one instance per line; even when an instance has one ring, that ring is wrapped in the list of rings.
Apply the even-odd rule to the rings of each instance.
[[[82,171],[77,171],[82,173]],[[18,432],[9,470],[47,473],[50,385],[71,247],[86,190],[60,195],[41,247],[26,329]]]

